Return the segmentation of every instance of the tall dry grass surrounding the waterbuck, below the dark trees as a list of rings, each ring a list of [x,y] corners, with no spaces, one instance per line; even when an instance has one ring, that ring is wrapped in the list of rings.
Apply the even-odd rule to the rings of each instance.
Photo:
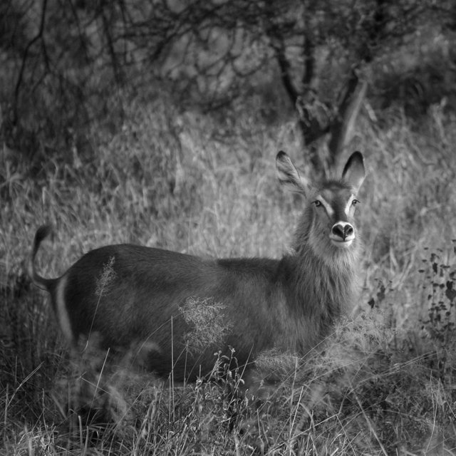
[[[73,147],[31,169],[0,151],[0,452],[456,454],[454,115],[436,106],[417,128],[363,113],[356,311],[305,362],[265,353],[274,383],[237,396],[242,373],[175,385],[132,372],[128,356],[115,368],[100,353],[70,363],[46,296],[24,277],[43,222],[56,229],[40,253],[48,276],[116,242],[213,257],[286,249],[301,202],[276,184],[274,157],[284,149],[306,169],[293,123],[264,125],[248,100],[219,119],[165,100],[129,106],[115,133],[94,126],[93,155]]]

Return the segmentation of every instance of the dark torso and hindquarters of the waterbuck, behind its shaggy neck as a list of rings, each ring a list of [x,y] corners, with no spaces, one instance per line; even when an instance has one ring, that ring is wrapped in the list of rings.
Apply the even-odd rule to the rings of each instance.
[[[276,344],[278,264],[120,244],[88,252],[41,287],[74,349],[95,334],[105,348],[136,351],[147,370],[194,380],[212,370],[219,350],[229,356],[232,346],[246,366]]]

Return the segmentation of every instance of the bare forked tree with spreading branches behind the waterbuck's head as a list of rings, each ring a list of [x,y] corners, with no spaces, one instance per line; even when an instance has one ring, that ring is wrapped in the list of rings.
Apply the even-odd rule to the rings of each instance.
[[[423,21],[432,21],[426,14],[435,10],[432,2],[412,0],[195,0],[185,7],[158,0],[155,5],[146,21],[130,16],[125,38],[139,48],[146,39],[160,70],[180,68],[188,86],[202,85],[203,93],[214,95],[211,101],[231,100],[242,81],[271,71],[275,62],[296,106],[306,153],[321,172],[338,165],[351,139],[369,65]],[[174,67],[167,66],[170,53]]]

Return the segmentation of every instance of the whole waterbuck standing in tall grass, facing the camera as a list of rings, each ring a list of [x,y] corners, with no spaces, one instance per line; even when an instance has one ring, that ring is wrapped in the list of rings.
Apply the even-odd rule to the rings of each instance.
[[[118,244],[44,279],[34,260],[50,228],[40,227],[28,273],[51,294],[71,346],[90,333],[104,347],[145,346],[147,368],[180,380],[209,373],[214,352],[230,346],[242,366],[268,349],[314,348],[356,296],[363,155],[354,152],[341,180],[321,185],[304,180],[285,152],[277,154],[276,169],[282,184],[306,198],[291,252],[281,259],[202,259]]]

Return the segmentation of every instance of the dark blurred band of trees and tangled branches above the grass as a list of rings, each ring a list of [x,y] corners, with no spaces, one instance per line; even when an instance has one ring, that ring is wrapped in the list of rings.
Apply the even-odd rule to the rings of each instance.
[[[0,13],[1,134],[19,150],[112,116],[115,91],[171,83],[214,109],[267,75],[317,170],[337,165],[375,62],[421,28],[456,29],[450,0],[8,0]]]

